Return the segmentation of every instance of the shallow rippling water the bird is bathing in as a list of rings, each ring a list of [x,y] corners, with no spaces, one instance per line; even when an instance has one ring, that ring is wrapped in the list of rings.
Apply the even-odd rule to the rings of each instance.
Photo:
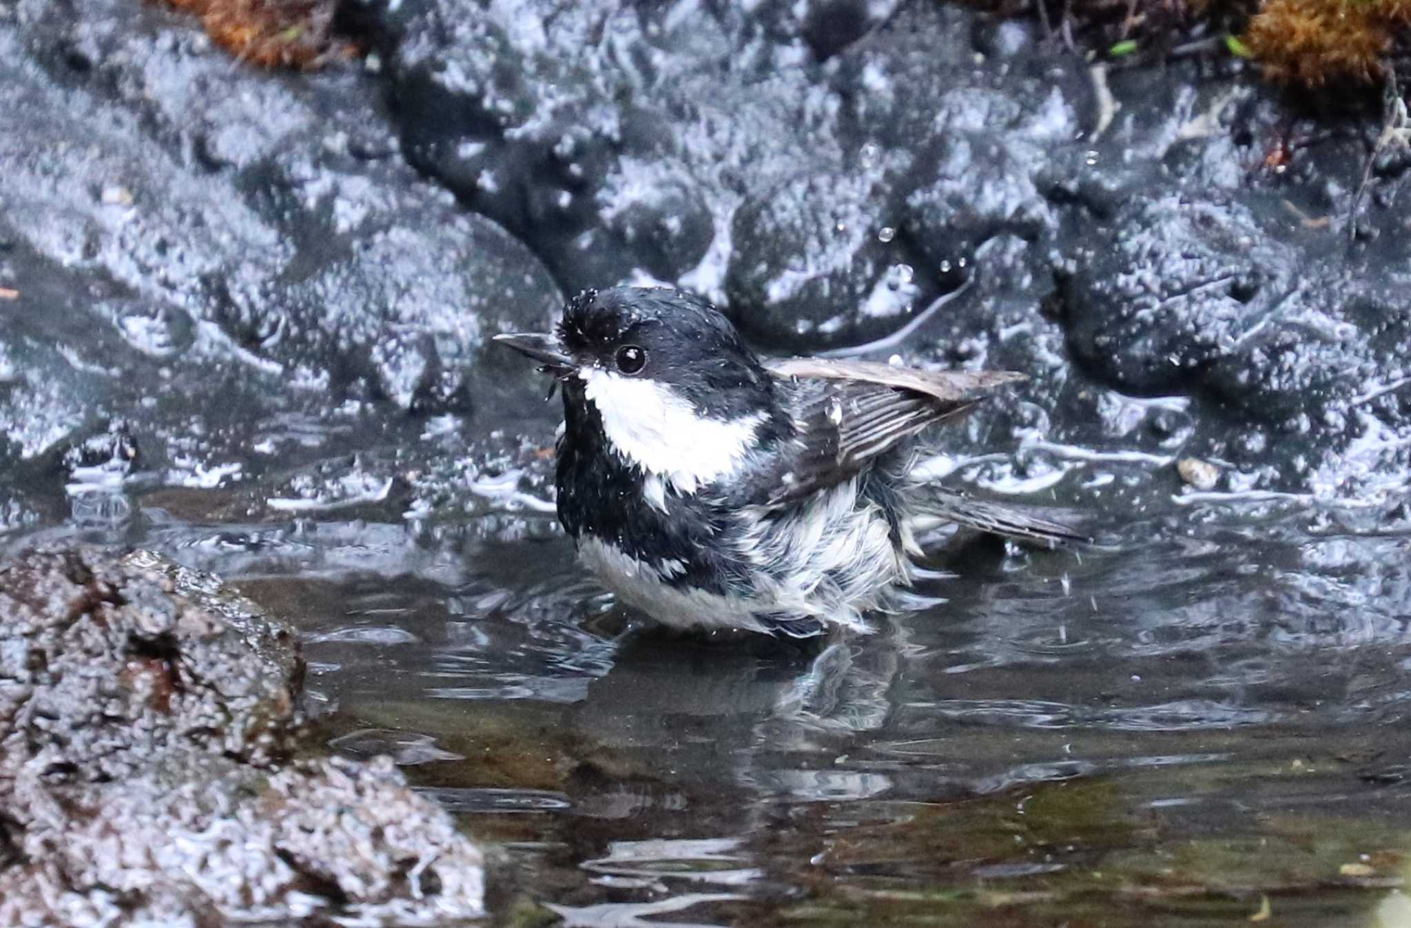
[[[223,505],[114,498],[83,535],[292,618],[320,738],[507,849],[502,924],[1411,924],[1411,535],[952,540],[917,588],[945,602],[793,643],[628,621],[552,516]]]

